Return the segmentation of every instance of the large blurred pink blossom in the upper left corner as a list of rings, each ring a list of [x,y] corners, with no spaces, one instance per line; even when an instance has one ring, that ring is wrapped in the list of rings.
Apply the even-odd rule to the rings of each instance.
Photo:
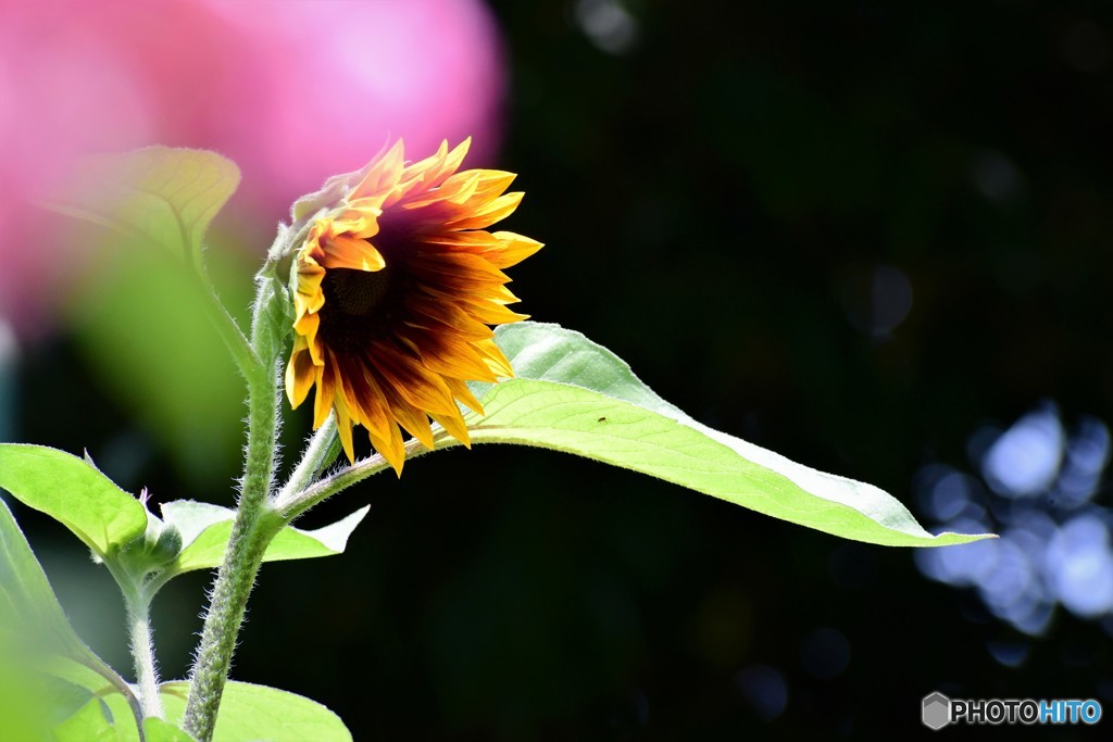
[[[85,154],[215,149],[257,236],[387,137],[420,154],[471,135],[483,162],[503,85],[481,0],[0,0],[0,320],[43,326],[78,256],[31,204]]]

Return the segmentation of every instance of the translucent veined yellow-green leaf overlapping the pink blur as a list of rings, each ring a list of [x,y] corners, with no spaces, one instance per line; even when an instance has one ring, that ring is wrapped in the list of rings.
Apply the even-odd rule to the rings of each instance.
[[[213,218],[236,191],[239,168],[203,149],[148,147],[88,158],[49,208],[199,256]]]

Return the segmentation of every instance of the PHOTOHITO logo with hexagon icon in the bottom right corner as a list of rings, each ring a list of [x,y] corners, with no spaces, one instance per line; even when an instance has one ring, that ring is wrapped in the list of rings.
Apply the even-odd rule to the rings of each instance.
[[[948,699],[925,695],[920,720],[940,730],[947,724],[1096,724],[1102,704],[1093,699]]]

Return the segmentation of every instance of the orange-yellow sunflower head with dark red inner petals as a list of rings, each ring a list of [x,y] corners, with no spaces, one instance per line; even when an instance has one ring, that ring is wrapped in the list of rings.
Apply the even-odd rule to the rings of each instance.
[[[541,244],[486,231],[522,194],[505,192],[511,172],[456,172],[469,144],[450,151],[444,142],[406,165],[396,142],[313,220],[294,254],[286,393],[297,407],[316,386],[313,427],[334,412],[349,461],[355,425],[398,474],[402,429],[432,448],[432,418],[469,445],[457,402],[483,408],[467,382],[514,374],[490,326],[525,319],[506,308],[518,297],[502,269]]]

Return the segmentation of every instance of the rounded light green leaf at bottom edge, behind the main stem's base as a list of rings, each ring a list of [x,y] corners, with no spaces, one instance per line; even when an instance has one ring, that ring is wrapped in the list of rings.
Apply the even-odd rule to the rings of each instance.
[[[159,694],[167,721],[180,723],[186,710],[185,682],[162,683]],[[352,733],[335,713],[294,693],[266,685],[229,682],[224,689],[213,742],[351,742]]]

